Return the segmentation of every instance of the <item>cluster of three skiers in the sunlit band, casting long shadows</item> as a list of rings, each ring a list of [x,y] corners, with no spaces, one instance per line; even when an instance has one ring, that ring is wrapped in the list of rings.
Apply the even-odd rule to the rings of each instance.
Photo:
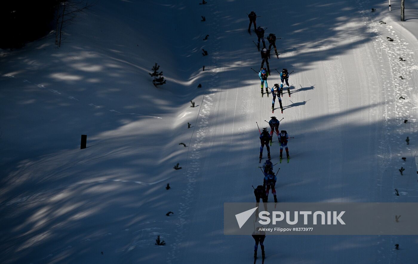
[[[265,92],[268,94],[268,83],[267,83],[268,75],[269,73],[268,71],[266,71],[265,68],[262,68],[260,72],[258,73],[258,77],[260,77],[260,81],[261,81],[261,96],[263,96],[264,94],[263,88],[265,88]],[[278,83],[275,83],[270,90],[271,93],[273,94],[273,101],[271,102],[271,109],[273,113],[275,109],[274,104],[275,104],[276,95],[277,95],[279,103],[280,103],[280,110],[283,114],[283,105],[282,105],[282,99],[280,98],[280,96],[283,97],[283,83],[285,83],[287,85],[287,91],[290,97],[289,75],[290,74],[288,70],[284,68],[282,72],[280,72],[280,80],[281,80],[280,86]]]

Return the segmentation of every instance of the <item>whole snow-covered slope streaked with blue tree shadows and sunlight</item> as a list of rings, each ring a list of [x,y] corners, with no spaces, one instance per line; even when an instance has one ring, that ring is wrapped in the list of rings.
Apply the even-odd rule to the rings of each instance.
[[[253,201],[251,185],[262,182],[255,122],[272,116],[250,69],[260,67],[251,10],[282,38],[269,86],[280,81],[273,69],[295,71],[274,114],[295,137],[279,166],[279,202],[416,202],[416,39],[379,24],[384,13],[370,10],[381,1],[266,5],[100,1],[61,49],[45,38],[2,51],[1,262],[252,262],[251,237],[223,235],[223,203]],[[158,89],[154,62],[167,79]],[[277,162],[277,141],[271,148]],[[166,246],[154,245],[157,235]],[[268,236],[265,263],[414,263],[417,244]]]

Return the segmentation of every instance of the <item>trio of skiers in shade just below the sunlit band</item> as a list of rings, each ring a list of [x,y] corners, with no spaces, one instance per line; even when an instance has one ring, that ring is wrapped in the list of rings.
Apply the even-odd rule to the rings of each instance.
[[[289,134],[285,130],[282,130],[282,131],[279,132],[280,121],[277,120],[277,118],[275,116],[271,117],[268,124],[270,125],[270,128],[271,128],[270,133],[268,133],[267,128],[263,128],[263,131],[260,132],[261,146],[260,146],[260,157],[259,157],[260,160],[259,160],[259,162],[261,163],[261,159],[263,159],[264,146],[266,146],[266,149],[267,149],[268,159],[271,159],[270,146],[273,142],[273,133],[275,132],[277,134],[278,142],[280,143],[280,163],[282,163],[283,148],[286,150],[287,161],[289,163],[290,156],[289,156],[289,149],[288,149],[288,146],[287,146],[288,140],[289,140]]]

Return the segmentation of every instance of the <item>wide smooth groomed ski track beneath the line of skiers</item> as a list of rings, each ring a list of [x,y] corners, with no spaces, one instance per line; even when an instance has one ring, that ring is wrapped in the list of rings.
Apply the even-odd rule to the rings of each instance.
[[[211,88],[217,92],[211,95],[209,126],[200,145],[201,175],[189,208],[191,218],[174,254],[182,263],[251,261],[252,238],[223,235],[223,202],[251,202],[251,185],[262,183],[255,122],[266,127],[264,120],[272,116],[272,96],[260,96],[260,82],[250,69],[260,67],[260,54],[252,44],[257,38],[247,33],[247,19],[241,15],[250,10],[262,15],[257,26],[268,27],[265,36],[271,32],[282,38],[276,41],[279,59],[273,54],[269,60],[269,87],[280,82],[274,69],[295,70],[291,98],[284,93],[282,99],[283,115],[274,114],[285,118],[279,129],[295,137],[288,143],[290,163],[278,165],[279,202],[394,201],[397,170],[391,167],[391,148],[403,140],[391,136],[396,126],[390,119],[396,113],[390,104],[396,105],[393,84],[398,81],[388,54],[376,42],[386,40],[370,18],[370,2],[303,4],[281,2],[260,10],[259,5],[236,1],[209,3],[217,12],[206,19],[215,21],[212,29],[219,28],[215,46],[208,47],[216,51],[217,82],[211,82]],[[276,163],[277,137],[271,149]],[[265,263],[399,261],[390,236],[268,236],[265,247]],[[409,249],[401,257],[405,263],[416,256],[413,246]]]

